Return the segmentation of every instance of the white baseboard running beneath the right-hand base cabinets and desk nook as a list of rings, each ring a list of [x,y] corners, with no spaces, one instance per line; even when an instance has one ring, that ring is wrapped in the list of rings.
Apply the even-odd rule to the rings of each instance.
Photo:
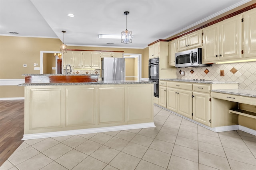
[[[183,116],[183,115],[180,115],[179,113],[176,113],[176,112],[174,112],[174,111],[170,111],[169,109],[166,109],[166,108],[164,108],[164,107],[162,107],[162,106],[159,106],[159,105],[157,105],[157,104],[154,104],[154,105],[156,105],[156,106],[158,106],[158,107],[161,107],[162,109],[165,109],[165,110],[167,110],[167,111],[169,111],[169,112],[171,112],[171,113],[174,113],[175,115],[178,115],[178,116],[180,116],[180,117],[182,117],[182,118],[184,118],[184,119],[187,119],[187,120],[189,120],[189,121],[192,121],[192,122],[194,122],[194,123],[196,123],[196,124],[198,124],[198,125],[200,125],[200,126],[202,126],[202,127],[205,127],[206,129],[209,129],[209,130],[211,130],[211,131],[214,131],[214,132],[225,132],[225,131],[236,131],[236,130],[240,130],[240,131],[244,131],[244,132],[246,132],[246,133],[250,133],[251,135],[255,135],[256,136],[256,130],[253,130],[253,129],[250,129],[250,128],[248,128],[248,127],[244,127],[244,126],[241,126],[241,125],[230,125],[230,126],[220,126],[220,127],[209,127],[209,126],[206,126],[206,125],[204,125],[204,124],[202,124],[202,123],[199,123],[199,122],[197,122],[197,121],[194,121],[194,120],[192,120],[192,119],[189,119],[188,117],[185,117],[185,116]]]

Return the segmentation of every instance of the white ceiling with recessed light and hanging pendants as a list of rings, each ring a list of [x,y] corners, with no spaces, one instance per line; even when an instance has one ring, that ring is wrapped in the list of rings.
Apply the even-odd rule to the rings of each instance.
[[[58,38],[74,46],[144,49],[250,0],[0,0],[0,35]],[[132,43],[99,39],[127,29]],[[69,17],[67,14],[74,14]],[[18,32],[10,34],[8,31]],[[114,44],[107,44],[114,43]]]

